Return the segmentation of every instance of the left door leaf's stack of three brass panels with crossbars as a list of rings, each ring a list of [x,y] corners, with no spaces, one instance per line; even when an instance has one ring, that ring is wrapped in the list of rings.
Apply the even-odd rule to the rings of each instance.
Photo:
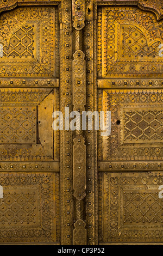
[[[0,243],[58,244],[58,8],[16,8],[0,29]]]

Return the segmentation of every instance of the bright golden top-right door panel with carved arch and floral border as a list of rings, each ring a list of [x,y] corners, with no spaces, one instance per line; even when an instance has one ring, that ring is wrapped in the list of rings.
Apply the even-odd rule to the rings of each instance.
[[[162,36],[154,14],[135,7],[99,9],[99,78],[161,77]]]

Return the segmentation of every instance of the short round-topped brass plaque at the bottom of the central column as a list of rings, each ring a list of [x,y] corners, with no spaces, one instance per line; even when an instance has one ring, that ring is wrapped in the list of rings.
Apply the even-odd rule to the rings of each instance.
[[[85,222],[83,220],[78,220],[74,223],[75,229],[73,230],[73,244],[74,245],[86,245],[86,229]]]

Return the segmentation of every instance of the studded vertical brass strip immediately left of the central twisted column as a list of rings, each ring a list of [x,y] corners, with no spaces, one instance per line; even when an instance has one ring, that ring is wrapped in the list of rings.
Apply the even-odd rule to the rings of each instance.
[[[72,105],[71,0],[62,0],[60,14],[60,111]],[[73,244],[72,132],[60,132],[61,244]]]

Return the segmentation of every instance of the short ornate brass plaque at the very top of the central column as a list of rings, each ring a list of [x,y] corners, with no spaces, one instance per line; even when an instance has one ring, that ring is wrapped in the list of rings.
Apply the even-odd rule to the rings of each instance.
[[[73,27],[78,31],[85,26],[85,0],[72,0]]]

